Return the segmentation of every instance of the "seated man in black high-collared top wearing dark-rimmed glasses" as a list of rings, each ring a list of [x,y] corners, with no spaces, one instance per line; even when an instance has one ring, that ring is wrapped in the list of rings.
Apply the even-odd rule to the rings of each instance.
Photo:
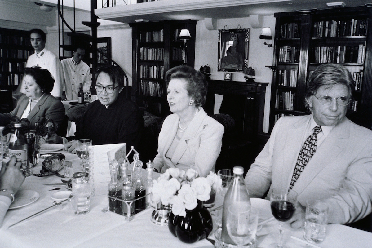
[[[127,152],[140,145],[144,120],[138,107],[125,97],[124,74],[113,65],[97,68],[95,73],[98,100],[89,104],[76,120],[74,136],[56,139],[64,150],[76,153],[75,140],[91,139],[93,145],[126,143]],[[62,141],[63,139],[63,141]]]

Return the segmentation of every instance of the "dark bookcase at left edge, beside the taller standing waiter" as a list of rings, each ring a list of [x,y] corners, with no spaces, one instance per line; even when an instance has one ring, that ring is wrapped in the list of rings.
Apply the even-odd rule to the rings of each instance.
[[[33,53],[28,31],[0,28],[0,88],[14,90]]]

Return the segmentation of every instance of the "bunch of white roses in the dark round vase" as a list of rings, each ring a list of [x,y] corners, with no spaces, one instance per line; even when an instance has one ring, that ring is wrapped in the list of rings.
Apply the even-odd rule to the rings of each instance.
[[[216,192],[222,190],[222,180],[217,174],[211,171],[207,177],[199,177],[192,168],[186,172],[169,168],[153,183],[153,201],[172,204],[173,214],[183,217],[186,216],[186,210],[198,206],[198,200],[209,200],[212,187]]]

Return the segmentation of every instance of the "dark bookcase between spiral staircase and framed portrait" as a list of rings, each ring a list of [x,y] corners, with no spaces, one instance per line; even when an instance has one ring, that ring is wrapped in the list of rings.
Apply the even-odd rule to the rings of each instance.
[[[195,20],[129,23],[132,27],[132,100],[153,115],[169,115],[164,75],[177,65],[194,67]],[[181,29],[191,39],[178,39]],[[187,58],[186,58],[187,56]],[[185,60],[187,63],[185,63]]]

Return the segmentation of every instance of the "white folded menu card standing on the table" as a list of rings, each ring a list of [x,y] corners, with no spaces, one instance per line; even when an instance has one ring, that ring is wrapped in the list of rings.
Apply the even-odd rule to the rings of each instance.
[[[125,143],[89,146],[89,180],[92,196],[108,194],[111,181],[110,160],[125,160]]]

